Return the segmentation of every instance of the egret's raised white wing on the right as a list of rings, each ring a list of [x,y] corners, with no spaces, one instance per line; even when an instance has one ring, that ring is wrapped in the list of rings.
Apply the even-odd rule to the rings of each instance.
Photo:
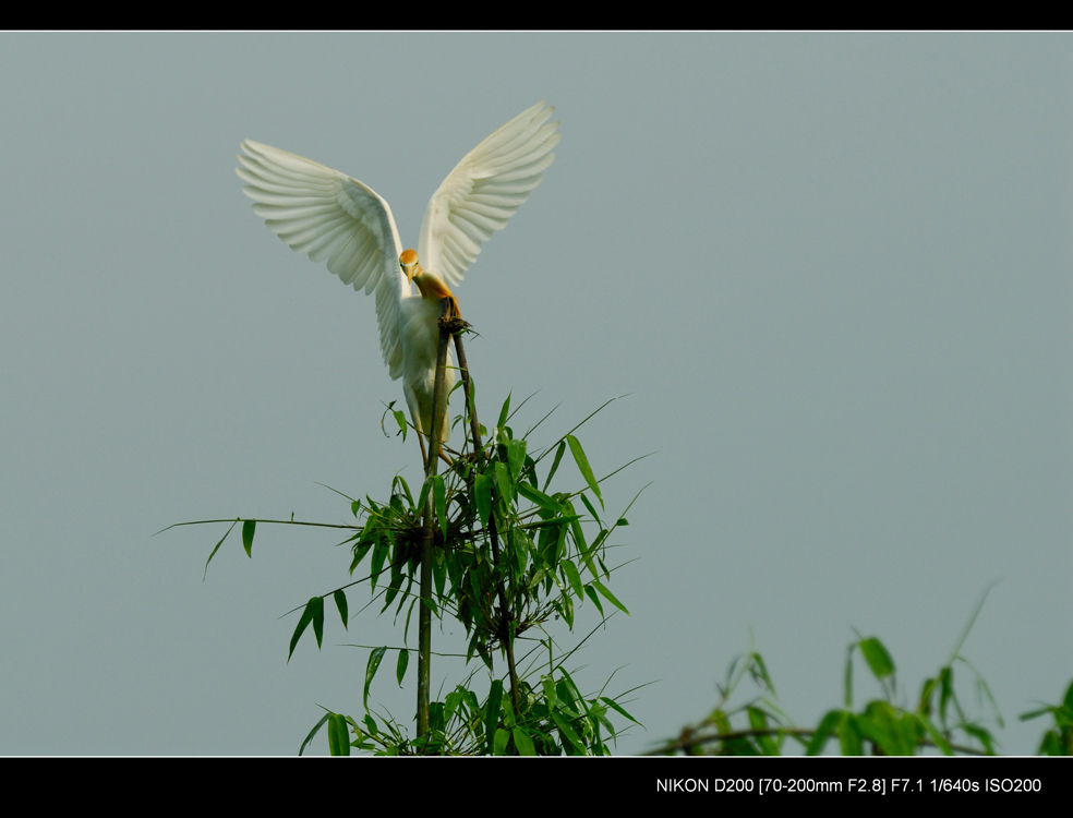
[[[470,151],[433,194],[421,222],[422,265],[457,285],[555,160],[558,121],[540,101]]]

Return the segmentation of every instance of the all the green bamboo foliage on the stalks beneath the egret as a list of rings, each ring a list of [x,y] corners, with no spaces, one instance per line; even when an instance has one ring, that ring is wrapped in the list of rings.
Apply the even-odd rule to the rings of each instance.
[[[412,426],[402,412],[393,407],[388,410],[405,440]],[[596,412],[551,446],[534,449],[530,434],[548,416],[518,436],[510,425],[514,413],[508,396],[491,435],[483,426],[479,426],[481,436],[474,435],[474,440],[487,435],[487,444],[477,448],[467,440],[461,452],[449,453],[449,469],[425,479],[420,491],[413,492],[401,476],[396,476],[386,501],[369,495],[364,500],[347,497],[355,522],[335,527],[350,529],[340,544],[350,546],[351,577],[362,566],[367,574],[294,609],[301,610],[301,615],[290,639],[288,661],[310,626],[317,646],[322,645],[327,600],[334,603],[343,627],[349,627],[349,594],[365,582],[373,600],[381,601],[381,613],[394,609],[398,622],[405,612],[403,647],[371,649],[363,714],[354,718],[326,711],[300,753],[326,725],[333,755],[350,755],[352,748],[382,755],[610,755],[608,742],[618,734],[612,718],[636,721],[615,698],[604,695],[604,689],[582,694],[567,669],[566,662],[588,636],[571,650],[560,651],[550,630],[552,622],[562,621],[572,631],[576,609],[586,602],[599,614],[596,627],[614,610],[628,614],[607,587],[613,570],[607,564],[607,549],[612,534],[629,525],[625,515],[632,501],[622,514],[606,515],[601,483],[622,469],[598,480],[574,434]],[[466,429],[469,421],[467,412],[456,423]],[[559,467],[567,452],[582,482],[579,488],[557,491],[553,479],[562,477]],[[431,532],[430,507],[435,520]],[[239,521],[232,521],[231,528]],[[243,546],[252,555],[257,520],[241,521]],[[432,594],[422,599],[422,542],[430,534]],[[226,539],[227,534],[216,544],[209,562]],[[463,659],[470,672],[442,701],[430,702],[427,732],[411,736],[406,725],[390,715],[377,717],[370,708],[369,695],[389,651],[397,654],[396,678],[402,685],[414,664],[410,654],[417,651],[406,646],[413,613],[422,604],[433,617],[453,618],[462,625],[468,639]],[[516,643],[529,647],[517,661]],[[501,661],[497,667],[497,654],[504,657],[506,666]]]

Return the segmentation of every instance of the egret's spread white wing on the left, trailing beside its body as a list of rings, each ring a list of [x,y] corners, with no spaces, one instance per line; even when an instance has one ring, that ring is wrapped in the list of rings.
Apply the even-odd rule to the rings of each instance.
[[[400,377],[399,302],[409,284],[399,267],[402,243],[387,202],[357,179],[296,154],[252,140],[242,151],[242,167],[234,172],[248,182],[242,191],[268,228],[294,252],[326,260],[343,284],[376,291],[384,362],[393,378]]]

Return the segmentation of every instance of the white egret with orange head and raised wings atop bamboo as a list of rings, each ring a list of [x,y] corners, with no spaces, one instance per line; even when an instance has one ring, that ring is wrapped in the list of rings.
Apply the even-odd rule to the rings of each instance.
[[[296,154],[242,143],[236,172],[268,228],[296,252],[327,261],[343,284],[375,291],[384,362],[391,380],[402,378],[421,434],[432,429],[441,300],[454,300],[448,284],[462,280],[481,244],[506,227],[555,159],[558,121],[547,122],[554,110],[534,105],[458,163],[429,201],[418,252],[403,251],[391,208],[371,188]],[[448,393],[454,382],[448,369]],[[448,431],[445,414],[444,441]]]

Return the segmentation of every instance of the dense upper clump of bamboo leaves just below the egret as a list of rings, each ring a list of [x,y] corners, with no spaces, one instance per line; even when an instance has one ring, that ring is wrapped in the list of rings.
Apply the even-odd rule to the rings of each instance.
[[[349,540],[354,555],[350,573],[367,556],[370,589],[375,593],[377,579],[388,572],[382,611],[399,599],[396,613],[407,606],[409,623],[418,601],[411,591],[424,532],[421,517],[431,495],[438,521],[434,611],[439,617],[448,615],[461,622],[470,637],[467,659],[480,655],[490,666],[494,650],[553,614],[572,628],[575,598],[587,597],[601,614],[601,598],[626,612],[602,578],[611,576],[604,562],[607,538],[628,521],[624,516],[613,522],[601,518],[588,496],[591,492],[603,508],[600,484],[574,434],[564,435],[534,458],[528,436],[516,438],[507,425],[509,408],[508,397],[493,430],[493,443],[481,457],[458,453],[451,470],[426,480],[417,498],[406,480],[397,476],[387,503],[370,497],[364,503],[351,503],[353,515],[363,519],[363,525]],[[400,430],[406,430],[402,412],[396,411],[395,417]],[[588,492],[551,494],[548,484],[567,448]],[[553,452],[551,467],[541,481],[538,466]],[[541,482],[542,489],[538,488]],[[578,500],[581,513],[575,505]],[[591,542],[584,533],[586,522],[598,526]],[[493,553],[493,539],[498,540],[503,552],[499,558]],[[499,588],[505,591],[506,606],[496,604]]]

